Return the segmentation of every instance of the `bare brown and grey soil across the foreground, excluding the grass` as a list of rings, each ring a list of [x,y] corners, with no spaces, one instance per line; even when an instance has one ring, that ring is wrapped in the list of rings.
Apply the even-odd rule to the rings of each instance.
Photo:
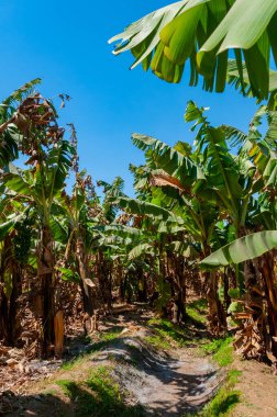
[[[108,347],[87,354],[70,370],[57,370],[60,361],[33,361],[27,364],[31,374],[13,370],[13,384],[11,377],[2,384],[0,415],[75,417],[74,402],[56,381],[81,383],[92,369],[100,365],[111,365],[112,379],[122,392],[129,393],[128,405],[141,404],[146,415],[174,417],[198,412],[217,393],[225,375],[209,358],[199,356],[198,342],[185,348],[176,346],[167,351],[155,349],[147,342],[147,337],[153,336],[147,326],[151,317],[151,312],[142,309],[106,318],[100,333],[118,330],[119,337]],[[201,338],[201,331],[196,329],[193,336]],[[70,345],[69,354],[88,352],[90,348],[84,340],[76,339]],[[34,369],[33,376],[30,367]],[[256,361],[239,359],[232,368],[242,371],[241,382],[235,386],[242,393],[242,403],[235,407],[232,417],[277,417],[277,376],[270,373],[270,369]]]

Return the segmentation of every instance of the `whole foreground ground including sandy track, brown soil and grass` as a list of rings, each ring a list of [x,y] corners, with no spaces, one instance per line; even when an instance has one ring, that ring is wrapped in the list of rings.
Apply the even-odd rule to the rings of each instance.
[[[210,342],[202,307],[191,306],[184,327],[142,307],[104,318],[92,341],[76,342],[82,354],[58,370],[44,364],[52,375],[9,382],[0,415],[277,416],[277,377],[265,364],[233,361],[230,338]]]

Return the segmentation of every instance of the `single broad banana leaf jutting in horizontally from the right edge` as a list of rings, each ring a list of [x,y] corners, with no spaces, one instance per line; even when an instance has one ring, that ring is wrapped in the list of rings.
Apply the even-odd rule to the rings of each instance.
[[[277,247],[277,230],[253,233],[223,246],[200,262],[204,269],[225,267],[254,259]]]

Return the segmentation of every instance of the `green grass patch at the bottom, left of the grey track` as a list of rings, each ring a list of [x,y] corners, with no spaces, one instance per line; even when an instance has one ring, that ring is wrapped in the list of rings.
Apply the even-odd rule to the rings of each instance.
[[[99,367],[85,381],[59,380],[56,384],[73,402],[77,417],[144,416],[143,407],[125,404],[126,393],[121,393],[111,374],[111,367]]]

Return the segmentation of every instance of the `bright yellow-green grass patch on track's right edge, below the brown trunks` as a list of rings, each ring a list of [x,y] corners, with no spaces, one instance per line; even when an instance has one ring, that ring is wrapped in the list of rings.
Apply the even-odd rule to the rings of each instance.
[[[212,354],[212,358],[218,362],[220,367],[228,367],[233,363],[233,347],[232,337],[225,339],[214,339],[209,343],[202,346],[206,353]]]

